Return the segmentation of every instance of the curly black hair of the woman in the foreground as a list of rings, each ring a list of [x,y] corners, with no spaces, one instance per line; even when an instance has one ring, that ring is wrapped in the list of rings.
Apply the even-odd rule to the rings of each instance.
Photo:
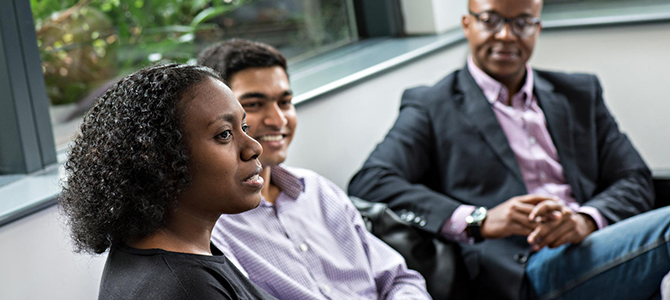
[[[111,86],[84,116],[59,197],[76,252],[103,253],[165,225],[190,184],[182,98],[213,70],[167,64]]]

